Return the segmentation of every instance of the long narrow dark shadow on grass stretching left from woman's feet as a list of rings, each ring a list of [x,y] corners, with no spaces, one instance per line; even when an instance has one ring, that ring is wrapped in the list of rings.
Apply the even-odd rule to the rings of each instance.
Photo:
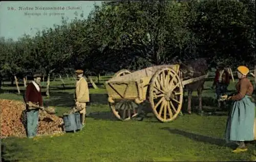
[[[184,130],[173,129],[173,128],[169,128],[169,127],[163,127],[160,129],[167,130],[172,134],[179,134],[181,136],[184,136],[186,138],[189,138],[191,140],[198,141],[198,142],[209,143],[212,145],[218,145],[220,147],[225,146],[225,147],[229,147],[232,149],[234,149],[236,147],[236,145],[234,145],[233,143],[227,144],[224,139],[203,136],[201,134],[190,133],[190,132],[187,132]]]

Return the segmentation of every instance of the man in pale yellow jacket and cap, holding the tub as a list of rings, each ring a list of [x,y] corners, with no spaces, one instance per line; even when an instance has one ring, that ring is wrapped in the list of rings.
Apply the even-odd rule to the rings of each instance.
[[[75,109],[81,114],[81,123],[84,125],[86,120],[86,102],[90,101],[89,88],[86,79],[83,77],[83,70],[76,70],[76,76]]]

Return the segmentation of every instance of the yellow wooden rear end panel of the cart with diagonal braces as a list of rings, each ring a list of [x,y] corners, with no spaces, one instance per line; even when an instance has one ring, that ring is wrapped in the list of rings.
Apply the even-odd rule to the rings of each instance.
[[[136,99],[138,98],[138,89],[136,82],[129,83],[107,83],[106,92],[113,99]]]

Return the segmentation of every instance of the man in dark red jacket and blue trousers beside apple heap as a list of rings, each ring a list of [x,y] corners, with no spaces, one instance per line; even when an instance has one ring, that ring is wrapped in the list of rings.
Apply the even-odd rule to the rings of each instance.
[[[42,96],[41,96],[41,76],[40,74],[33,75],[34,80],[32,83],[28,84],[26,88],[26,103],[32,102],[44,110],[42,105]],[[37,134],[37,123],[39,118],[39,109],[38,107],[27,106],[27,136],[28,138],[34,138]]]

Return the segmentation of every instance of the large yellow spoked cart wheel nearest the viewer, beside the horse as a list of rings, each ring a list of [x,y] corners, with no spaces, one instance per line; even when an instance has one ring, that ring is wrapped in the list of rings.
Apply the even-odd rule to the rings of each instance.
[[[158,70],[151,79],[148,100],[159,121],[175,120],[183,101],[182,82],[177,72],[168,67]]]

